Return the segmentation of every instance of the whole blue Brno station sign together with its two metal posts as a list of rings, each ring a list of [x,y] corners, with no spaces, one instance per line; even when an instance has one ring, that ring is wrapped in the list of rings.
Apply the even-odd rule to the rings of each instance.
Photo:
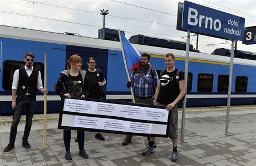
[[[182,18],[182,19],[181,19]],[[178,4],[178,20],[177,27],[178,30],[188,30],[189,33],[197,33],[208,35],[210,37],[216,37],[221,39],[232,40],[232,50],[230,56],[230,70],[229,70],[229,87],[228,87],[228,105],[227,105],[227,120],[226,120],[226,131],[228,134],[228,124],[229,124],[229,112],[230,112],[230,97],[232,90],[232,74],[233,74],[233,59],[234,59],[234,41],[244,39],[244,22],[245,19],[238,17],[237,15],[217,11],[212,8],[201,6],[189,1],[184,1],[183,7]],[[246,40],[250,41],[253,32],[247,32]],[[252,39],[254,40],[254,39]],[[188,61],[189,50],[188,50],[187,38],[187,48],[186,48],[186,63],[185,63],[185,81],[188,83]],[[186,88],[186,85],[185,85]],[[185,89],[186,90],[186,89]],[[183,117],[181,123],[181,141],[184,137],[184,124],[185,124],[185,107],[186,107],[186,96],[183,105]]]

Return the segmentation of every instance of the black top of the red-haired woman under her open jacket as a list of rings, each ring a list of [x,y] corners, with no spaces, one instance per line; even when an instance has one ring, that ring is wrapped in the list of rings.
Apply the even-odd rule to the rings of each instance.
[[[70,96],[83,95],[83,80],[80,73],[77,76],[72,76],[68,73],[67,92]]]

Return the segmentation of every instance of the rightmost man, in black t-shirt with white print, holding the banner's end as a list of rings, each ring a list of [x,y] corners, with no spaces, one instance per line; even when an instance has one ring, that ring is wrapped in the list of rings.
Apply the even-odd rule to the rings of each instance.
[[[178,162],[178,102],[185,96],[185,80],[184,74],[175,68],[174,54],[165,55],[166,69],[161,71],[159,75],[159,84],[156,89],[155,106],[164,106],[171,114],[168,136],[173,141],[172,162]],[[178,74],[179,72],[179,74]],[[155,137],[150,138],[149,146],[142,151],[142,155],[154,152],[153,144]]]

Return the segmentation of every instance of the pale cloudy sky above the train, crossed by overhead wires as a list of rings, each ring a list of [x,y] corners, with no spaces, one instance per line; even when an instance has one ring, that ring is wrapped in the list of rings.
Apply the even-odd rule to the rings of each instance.
[[[185,42],[186,32],[176,30],[178,0],[0,0],[0,24],[45,30],[57,33],[77,33],[98,37],[102,28],[101,9],[109,9],[106,28],[125,31],[127,39],[143,34]],[[191,0],[219,11],[245,18],[245,27],[256,25],[255,0]],[[191,35],[194,35],[191,33]],[[196,37],[190,43],[196,48]],[[212,53],[217,48],[231,49],[231,41],[199,35],[198,49]],[[238,50],[256,53],[256,45],[238,41]]]

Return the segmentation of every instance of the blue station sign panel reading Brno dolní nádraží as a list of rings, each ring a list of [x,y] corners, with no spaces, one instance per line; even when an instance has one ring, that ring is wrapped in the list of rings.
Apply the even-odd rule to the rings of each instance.
[[[182,28],[229,40],[244,40],[243,17],[184,1]]]

